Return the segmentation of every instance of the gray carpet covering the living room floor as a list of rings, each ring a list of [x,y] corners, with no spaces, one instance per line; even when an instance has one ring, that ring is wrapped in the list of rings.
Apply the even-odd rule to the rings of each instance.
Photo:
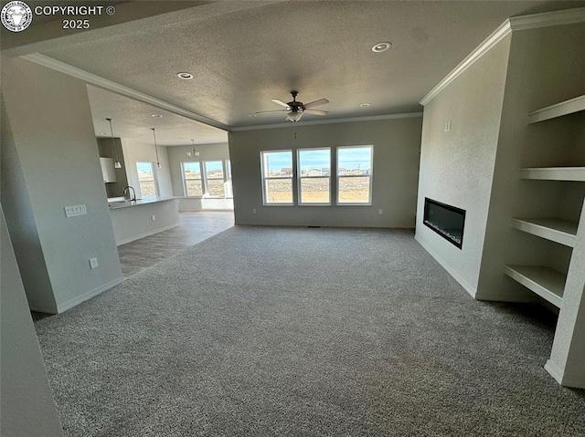
[[[409,231],[236,226],[35,322],[68,436],[575,436],[555,317]]]

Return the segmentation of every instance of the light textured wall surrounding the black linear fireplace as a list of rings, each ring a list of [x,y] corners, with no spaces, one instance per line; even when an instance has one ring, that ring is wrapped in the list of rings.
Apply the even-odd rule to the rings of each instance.
[[[510,41],[505,36],[424,109],[415,238],[473,297],[482,264]],[[425,197],[466,211],[461,249],[423,224]]]

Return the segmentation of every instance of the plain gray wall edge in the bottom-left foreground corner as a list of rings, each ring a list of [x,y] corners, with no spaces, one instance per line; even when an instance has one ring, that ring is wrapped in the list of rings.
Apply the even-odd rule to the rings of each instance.
[[[63,431],[1,209],[0,233],[0,434],[60,437]]]

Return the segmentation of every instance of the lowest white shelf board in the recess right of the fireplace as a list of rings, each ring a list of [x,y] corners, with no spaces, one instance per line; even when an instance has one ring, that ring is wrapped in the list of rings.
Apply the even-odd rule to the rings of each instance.
[[[558,271],[534,265],[505,265],[504,273],[555,307],[562,305],[567,276]]]

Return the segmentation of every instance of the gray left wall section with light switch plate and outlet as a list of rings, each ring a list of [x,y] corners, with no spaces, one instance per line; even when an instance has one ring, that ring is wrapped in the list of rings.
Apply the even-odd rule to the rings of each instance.
[[[86,85],[3,57],[2,95],[11,130],[7,146],[14,148],[8,154],[13,161],[3,156],[3,166],[17,166],[14,172],[21,174],[18,185],[4,186],[3,172],[2,199],[20,203],[27,197],[29,205],[6,214],[6,223],[27,279],[29,305],[55,312],[35,305],[52,294],[60,312],[122,281]],[[85,204],[87,214],[67,218],[64,207],[77,204]],[[38,245],[23,223],[34,228]],[[43,261],[36,265],[39,271],[27,270],[28,251]],[[98,258],[99,268],[90,269],[91,257]],[[31,288],[29,275],[48,276],[50,289]]]

